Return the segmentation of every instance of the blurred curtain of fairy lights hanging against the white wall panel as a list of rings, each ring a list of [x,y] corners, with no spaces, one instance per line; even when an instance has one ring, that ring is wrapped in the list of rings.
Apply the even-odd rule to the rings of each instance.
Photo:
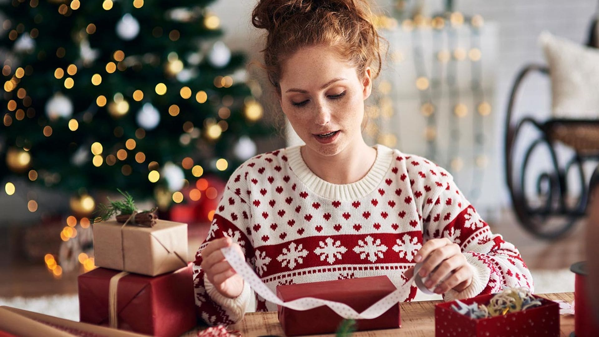
[[[416,14],[397,20],[394,17],[379,16],[377,26],[382,28],[383,35],[390,41],[389,55],[394,64],[400,64],[406,59],[406,52],[412,53],[413,67],[415,68],[414,86],[420,100],[419,114],[425,119],[425,127],[422,133],[423,141],[426,142],[425,157],[430,158],[444,167],[447,167],[452,175],[458,179],[459,173],[464,169],[465,158],[471,158],[472,171],[470,191],[468,197],[471,200],[480,195],[483,173],[488,165],[488,157],[485,148],[485,125],[486,119],[491,113],[491,104],[485,98],[482,78],[482,50],[480,31],[484,26],[482,16],[475,15],[470,18],[464,14],[451,11],[438,16],[427,17]],[[464,46],[464,41],[458,41],[458,30],[468,29],[470,46]],[[400,33],[401,34],[398,34]],[[432,49],[424,46],[423,32],[432,37]],[[408,35],[406,35],[406,33]],[[401,43],[397,38],[411,36],[410,50],[398,49]],[[432,53],[427,55],[426,53]],[[428,56],[433,60],[427,63]],[[461,62],[470,62],[470,79],[467,88],[463,89],[463,83],[458,83],[458,65]],[[404,66],[405,67],[405,66]],[[391,76],[397,73],[387,72]],[[401,119],[406,122],[415,118],[414,114],[408,112],[395,113],[395,110],[404,110],[401,104],[403,99],[394,89],[406,85],[406,79],[389,77],[383,72],[383,78],[377,87],[375,102],[367,107],[368,125],[365,127],[367,136],[377,140],[383,145],[395,147],[401,142]],[[467,92],[467,91],[470,92]],[[443,98],[448,103],[441,105]],[[468,100],[472,100],[468,102]],[[474,107],[474,113],[469,107]],[[439,125],[442,114],[447,113],[448,125]],[[395,117],[393,117],[395,115]],[[459,147],[462,137],[466,135],[461,128],[461,121],[470,116],[472,119],[473,146],[469,149],[470,154],[465,153],[467,149]],[[393,118],[393,122],[391,119]],[[440,139],[439,128],[449,130],[448,139]],[[470,159],[468,159],[470,160]],[[470,176],[468,176],[470,177]]]

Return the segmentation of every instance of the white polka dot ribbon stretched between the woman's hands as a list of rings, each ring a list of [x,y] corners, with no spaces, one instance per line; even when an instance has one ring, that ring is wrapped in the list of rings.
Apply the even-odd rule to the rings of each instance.
[[[301,299],[283,302],[281,299],[279,299],[279,297],[277,297],[276,294],[273,293],[273,291],[267,287],[267,285],[264,284],[264,282],[262,282],[252,267],[250,267],[249,264],[243,260],[238,252],[235,252],[232,249],[232,246],[221,248],[220,251],[222,251],[223,255],[225,255],[226,260],[229,261],[229,264],[231,264],[231,267],[235,270],[235,272],[237,272],[244,279],[244,281],[247,282],[250,287],[252,287],[252,289],[265,300],[275,303],[276,305],[285,306],[286,308],[299,311],[309,310],[317,308],[318,306],[326,305],[341,317],[348,319],[371,319],[379,317],[388,311],[389,308],[406,299],[410,293],[410,286],[420,270],[420,266],[418,265],[414,270],[415,276],[412,276],[412,278],[410,278],[406,284],[403,285],[403,287],[383,297],[364,311],[356,312],[349,305],[344,303],[317,299],[315,297],[302,297]]]

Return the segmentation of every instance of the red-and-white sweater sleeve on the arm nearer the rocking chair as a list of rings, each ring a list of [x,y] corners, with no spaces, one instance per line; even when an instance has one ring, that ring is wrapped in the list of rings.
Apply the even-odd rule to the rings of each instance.
[[[431,191],[429,200],[434,201],[423,207],[423,239],[447,237],[457,243],[474,270],[470,286],[461,292],[450,289],[444,300],[498,293],[504,286],[533,291],[533,278],[518,249],[491,232],[449,173],[442,176]]]

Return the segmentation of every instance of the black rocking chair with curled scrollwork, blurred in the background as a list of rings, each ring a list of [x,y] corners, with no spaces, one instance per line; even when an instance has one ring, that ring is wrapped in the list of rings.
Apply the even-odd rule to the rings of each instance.
[[[592,22],[587,46],[599,47],[595,35],[596,26],[597,19]],[[518,121],[512,121],[518,89],[525,77],[535,72],[547,75],[549,68],[546,65],[527,65],[516,76],[510,93],[505,134],[506,180],[513,209],[522,226],[537,237],[556,239],[570,230],[585,215],[589,197],[589,180],[585,177],[583,164],[587,161],[599,160],[599,120],[549,118],[539,121],[525,116]],[[525,125],[532,125],[540,131],[540,136],[528,146],[521,166],[516,167],[514,158],[516,138],[522,133],[522,127]],[[568,146],[574,152],[565,166],[559,165],[555,149],[557,143]],[[552,167],[547,171],[541,171],[536,176],[536,195],[532,198],[525,191],[525,182],[534,176],[527,177],[526,169],[532,164],[530,160],[533,152],[541,147],[545,147],[549,152]],[[580,193],[577,198],[570,200],[567,197],[568,192],[572,192],[572,186],[568,185],[567,176],[573,168],[579,178],[576,180],[580,183]],[[590,179],[591,182],[597,180],[599,180],[599,167],[594,170]]]

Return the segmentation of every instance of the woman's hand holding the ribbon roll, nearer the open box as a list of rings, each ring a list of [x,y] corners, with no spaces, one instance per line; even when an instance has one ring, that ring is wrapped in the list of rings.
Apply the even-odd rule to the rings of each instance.
[[[447,278],[434,289],[437,294],[446,293],[449,289],[462,291],[472,283],[473,267],[459,245],[446,237],[428,240],[416,253],[414,260],[417,263],[424,261],[419,274],[422,278],[430,275],[424,284],[427,288]]]

